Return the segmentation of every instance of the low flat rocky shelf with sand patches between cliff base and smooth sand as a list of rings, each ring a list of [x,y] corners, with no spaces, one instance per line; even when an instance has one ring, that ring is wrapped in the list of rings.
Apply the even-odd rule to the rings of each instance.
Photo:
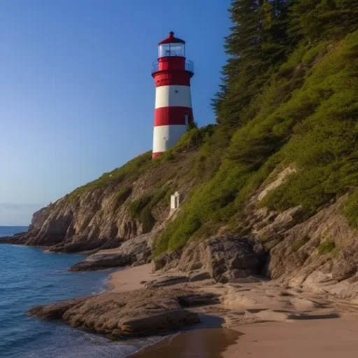
[[[102,294],[36,306],[28,315],[66,324],[112,339],[169,334],[195,327],[200,315],[220,318],[221,327],[240,329],[262,322],[301,322],[358,313],[358,305],[310,289],[295,289],[262,276],[222,283],[206,272],[191,276],[150,264],[113,273]]]

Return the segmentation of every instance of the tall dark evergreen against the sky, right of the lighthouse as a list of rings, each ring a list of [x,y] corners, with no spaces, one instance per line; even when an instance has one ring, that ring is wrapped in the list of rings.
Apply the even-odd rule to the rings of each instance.
[[[233,128],[251,119],[243,111],[259,94],[273,68],[286,58],[288,6],[287,0],[231,3],[233,26],[224,45],[229,59],[222,71],[220,92],[213,99],[218,124]]]

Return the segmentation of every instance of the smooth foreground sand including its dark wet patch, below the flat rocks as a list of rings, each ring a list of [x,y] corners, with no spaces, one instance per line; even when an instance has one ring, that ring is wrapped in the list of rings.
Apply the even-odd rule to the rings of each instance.
[[[136,358],[356,358],[357,316],[196,329],[153,345]]]

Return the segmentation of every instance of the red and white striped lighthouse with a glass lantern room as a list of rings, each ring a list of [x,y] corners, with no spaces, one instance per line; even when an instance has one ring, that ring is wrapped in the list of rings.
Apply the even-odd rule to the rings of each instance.
[[[192,76],[194,66],[185,58],[185,41],[171,32],[158,43],[158,59],[152,66],[155,80],[153,158],[173,147],[194,120]]]

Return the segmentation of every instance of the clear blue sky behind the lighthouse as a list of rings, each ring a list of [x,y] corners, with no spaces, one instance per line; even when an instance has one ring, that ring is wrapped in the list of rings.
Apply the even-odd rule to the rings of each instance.
[[[194,61],[194,117],[214,122],[229,0],[0,1],[0,225],[151,149],[157,42]]]

